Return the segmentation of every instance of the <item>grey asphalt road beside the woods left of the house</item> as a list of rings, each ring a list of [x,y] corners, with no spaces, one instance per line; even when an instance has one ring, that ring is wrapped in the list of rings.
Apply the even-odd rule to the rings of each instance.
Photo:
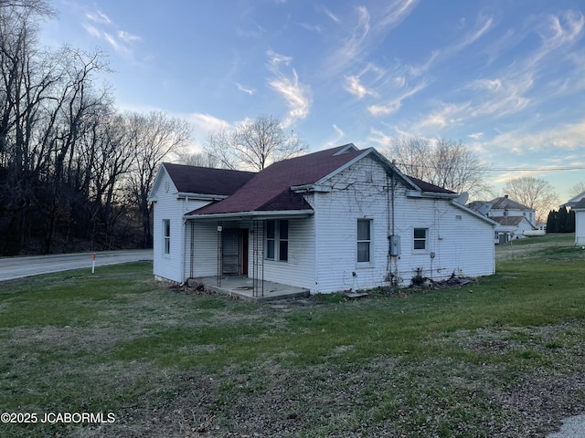
[[[132,251],[102,251],[95,253],[95,266],[117,265],[120,263],[152,260],[152,249]],[[70,269],[91,269],[93,253],[36,255],[32,257],[0,258],[0,281],[37,276]]]

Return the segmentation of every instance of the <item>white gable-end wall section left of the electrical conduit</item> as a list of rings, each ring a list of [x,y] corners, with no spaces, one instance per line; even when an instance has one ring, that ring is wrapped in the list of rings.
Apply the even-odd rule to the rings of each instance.
[[[317,274],[314,293],[377,287],[388,272],[386,172],[373,160],[356,162],[314,196]],[[370,264],[357,264],[357,219],[371,219]]]

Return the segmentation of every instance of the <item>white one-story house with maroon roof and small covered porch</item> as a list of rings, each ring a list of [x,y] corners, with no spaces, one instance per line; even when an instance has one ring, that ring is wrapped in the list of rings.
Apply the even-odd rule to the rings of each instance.
[[[167,191],[168,166],[151,196],[159,278],[239,275],[329,293],[495,272],[495,222],[375,149],[276,162],[221,200]]]

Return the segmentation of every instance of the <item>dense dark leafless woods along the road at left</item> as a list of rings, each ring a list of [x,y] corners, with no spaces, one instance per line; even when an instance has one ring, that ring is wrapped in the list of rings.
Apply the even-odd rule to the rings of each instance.
[[[152,245],[148,191],[190,128],[116,110],[101,51],[49,50],[45,0],[0,0],[0,255]]]

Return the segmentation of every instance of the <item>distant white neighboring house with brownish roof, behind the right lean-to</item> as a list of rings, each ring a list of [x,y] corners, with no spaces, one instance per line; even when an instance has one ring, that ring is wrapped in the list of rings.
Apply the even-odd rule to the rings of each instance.
[[[468,207],[485,214],[497,223],[495,226],[495,243],[505,244],[512,239],[525,237],[525,231],[537,230],[536,210],[516,203],[507,194],[492,201],[473,201]]]

